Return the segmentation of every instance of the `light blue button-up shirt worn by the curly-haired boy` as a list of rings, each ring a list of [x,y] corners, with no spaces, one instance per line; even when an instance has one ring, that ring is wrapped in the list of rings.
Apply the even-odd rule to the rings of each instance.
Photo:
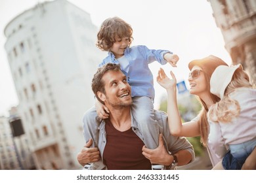
[[[147,96],[154,99],[154,80],[148,64],[153,61],[158,61],[161,65],[166,64],[167,61],[163,59],[166,53],[173,54],[168,50],[150,50],[142,45],[125,49],[124,55],[129,61],[129,70],[128,73],[121,71],[127,76],[127,81],[131,85],[132,97]],[[108,52],[108,56],[103,59],[99,67],[106,63],[119,64],[112,52]]]

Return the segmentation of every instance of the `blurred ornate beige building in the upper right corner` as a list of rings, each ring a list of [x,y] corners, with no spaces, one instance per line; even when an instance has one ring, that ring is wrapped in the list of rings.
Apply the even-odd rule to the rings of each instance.
[[[256,84],[256,1],[208,0],[232,63],[241,63]]]

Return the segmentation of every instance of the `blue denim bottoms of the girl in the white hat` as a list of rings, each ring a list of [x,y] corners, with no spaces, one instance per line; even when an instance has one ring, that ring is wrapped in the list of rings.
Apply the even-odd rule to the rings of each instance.
[[[240,170],[246,158],[251,154],[256,146],[256,139],[240,144],[231,144],[230,150],[223,158],[223,167],[226,170]]]

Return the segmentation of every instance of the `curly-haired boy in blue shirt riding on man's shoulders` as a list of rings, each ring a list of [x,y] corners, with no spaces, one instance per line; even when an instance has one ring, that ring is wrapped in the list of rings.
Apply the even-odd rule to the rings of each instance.
[[[160,129],[154,119],[154,85],[153,75],[148,64],[158,61],[161,65],[170,63],[177,67],[179,60],[177,55],[168,50],[150,50],[146,46],[132,46],[133,29],[121,18],[114,17],[106,19],[98,31],[96,46],[100,50],[108,51],[108,56],[103,59],[99,67],[106,63],[116,63],[121,66],[121,71],[127,76],[127,82],[131,86],[131,95],[133,97],[133,108],[135,109],[134,118],[142,129],[141,140],[147,148],[154,149],[158,147],[158,137]],[[89,110],[83,118],[83,123],[93,119],[99,122],[95,115],[101,119],[108,118],[108,108],[96,100],[95,110]],[[85,140],[94,139],[96,134],[84,127]],[[96,144],[95,144],[96,145]],[[163,165],[152,165],[152,169],[163,169]]]

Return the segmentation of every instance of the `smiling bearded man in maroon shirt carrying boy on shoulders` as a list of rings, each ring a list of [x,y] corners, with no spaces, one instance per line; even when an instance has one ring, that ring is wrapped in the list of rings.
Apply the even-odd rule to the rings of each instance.
[[[155,112],[161,133],[160,145],[155,150],[144,146],[140,126],[133,118],[131,87],[119,65],[108,63],[98,69],[92,88],[98,101],[108,107],[110,116],[100,124],[96,124],[95,119],[83,120],[84,129],[89,131],[84,133],[85,140],[90,140],[77,155],[81,165],[87,164],[87,169],[135,170],[151,169],[151,163],[156,163],[173,169],[175,165],[186,165],[194,160],[192,145],[184,137],[170,135],[164,112]],[[84,118],[88,116],[85,114]],[[92,144],[98,148],[89,148]]]

